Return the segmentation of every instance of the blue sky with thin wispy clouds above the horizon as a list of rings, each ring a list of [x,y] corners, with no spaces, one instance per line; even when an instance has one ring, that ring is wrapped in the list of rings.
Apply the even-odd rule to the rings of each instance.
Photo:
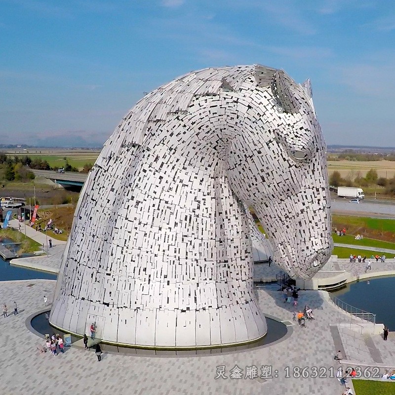
[[[0,0],[0,143],[102,145],[144,91],[255,63],[312,80],[328,144],[395,146],[386,0]]]

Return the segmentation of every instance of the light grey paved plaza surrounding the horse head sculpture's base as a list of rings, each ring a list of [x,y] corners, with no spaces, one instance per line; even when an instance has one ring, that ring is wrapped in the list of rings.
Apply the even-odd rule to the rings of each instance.
[[[64,247],[64,243],[53,247],[49,258],[16,259],[12,264],[56,273]],[[357,276],[362,267],[363,264],[339,260],[325,267],[325,270],[346,270]],[[394,260],[372,262],[371,273],[392,270],[395,270]],[[275,278],[279,271],[276,264],[270,267],[267,263],[259,264],[255,265],[254,277]],[[293,312],[297,308],[284,303],[281,292],[256,289],[261,311],[290,325],[291,332],[285,340],[260,349],[242,352],[229,349],[226,354],[201,356],[183,356],[182,353],[179,356],[133,356],[106,353],[104,345],[101,363],[93,351],[87,352],[73,346],[56,357],[49,353],[40,354],[36,347],[44,345],[44,341],[27,329],[25,321],[28,316],[44,309],[43,295],[52,300],[55,283],[54,280],[0,282],[0,302],[6,303],[11,313],[7,318],[0,318],[1,395],[340,395],[344,387],[336,378],[329,377],[330,368],[336,373],[339,366],[333,360],[338,349],[346,357],[344,368],[350,365],[373,369],[377,366],[381,374],[385,367],[395,367],[395,336],[390,333],[388,341],[384,342],[379,334],[361,334],[352,330],[351,326],[338,325],[338,317],[343,317],[344,321],[349,316],[329,300],[325,291],[300,291],[297,308],[303,310],[304,305],[308,304],[316,316],[316,320],[308,320],[306,327],[302,328],[293,321]],[[14,301],[18,303],[19,310],[16,316],[11,311]],[[254,366],[258,377],[245,378],[248,373],[253,376]],[[308,367],[305,378],[299,374],[299,368],[304,367]],[[224,376],[227,378],[215,379],[221,368],[225,369]],[[316,368],[321,368],[318,372],[326,377],[314,378]]]

